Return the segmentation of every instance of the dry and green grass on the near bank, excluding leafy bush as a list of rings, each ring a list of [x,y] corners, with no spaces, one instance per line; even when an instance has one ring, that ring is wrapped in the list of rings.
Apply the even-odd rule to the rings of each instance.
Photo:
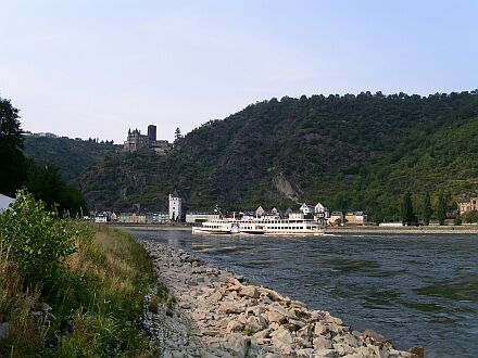
[[[48,289],[25,286],[9,251],[0,247],[0,323],[10,322],[0,356],[151,356],[136,324],[154,282],[147,253],[125,232],[72,225],[77,250]],[[53,317],[33,315],[40,303],[53,308]]]

